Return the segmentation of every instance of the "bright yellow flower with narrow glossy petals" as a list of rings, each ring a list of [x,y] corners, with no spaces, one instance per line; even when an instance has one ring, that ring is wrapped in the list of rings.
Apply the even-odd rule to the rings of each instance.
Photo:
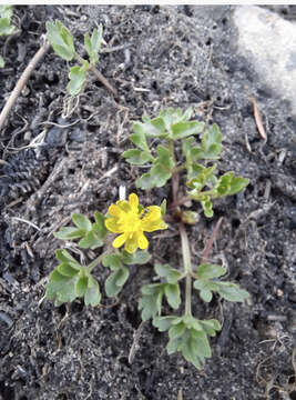
[[[135,193],[130,194],[129,201],[119,200],[116,204],[111,204],[108,212],[111,217],[105,219],[106,229],[113,233],[121,233],[113,240],[113,247],[116,249],[125,243],[124,249],[131,254],[137,248],[144,250],[149,247],[143,232],[167,228],[162,219],[161,208],[150,206],[145,213]]]

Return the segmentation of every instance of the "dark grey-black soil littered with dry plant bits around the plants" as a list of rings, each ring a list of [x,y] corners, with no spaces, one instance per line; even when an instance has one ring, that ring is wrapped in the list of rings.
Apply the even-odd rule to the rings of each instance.
[[[296,399],[292,363],[295,329],[296,119],[290,107],[237,56],[233,7],[58,7],[14,8],[21,33],[6,47],[0,70],[0,108],[40,47],[45,21],[60,19],[82,44],[83,34],[104,27],[108,46],[101,72],[118,88],[115,101],[93,79],[80,102],[67,110],[67,63],[50,51],[34,70],[0,134],[0,399]],[[288,7],[276,12],[290,19]],[[1,38],[1,49],[6,38]],[[83,54],[82,54],[83,56]],[[258,134],[249,98],[262,111],[268,140]],[[120,301],[103,297],[101,308],[75,302],[55,308],[44,299],[47,277],[57,264],[53,237],[73,212],[105,212],[119,186],[134,191],[137,169],[121,158],[132,122],[145,112],[193,107],[196,118],[217,122],[224,137],[220,172],[251,179],[238,196],[216,201],[212,219],[188,229],[196,262],[220,217],[212,251],[228,279],[251,300],[213,300],[193,310],[217,318],[223,330],[202,371],[180,354],[169,357],[166,334],[143,326],[133,362],[129,353],[141,323],[141,286],[152,264],[132,269]],[[62,118],[64,116],[64,118]],[[58,123],[54,126],[50,122]],[[72,126],[70,126],[73,123]],[[64,126],[64,127],[62,127]],[[45,130],[40,148],[21,150]],[[141,193],[160,204],[170,193]],[[22,222],[29,221],[38,229]],[[154,239],[159,260],[181,261],[174,228]],[[177,244],[176,244],[177,243]],[[94,254],[88,254],[90,259]],[[108,271],[99,267],[103,286]],[[110,307],[113,306],[113,307]]]

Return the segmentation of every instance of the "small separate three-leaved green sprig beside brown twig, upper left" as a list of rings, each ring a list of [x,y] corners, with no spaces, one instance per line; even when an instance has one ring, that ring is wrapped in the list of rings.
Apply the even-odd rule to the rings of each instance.
[[[94,29],[92,36],[90,33],[84,34],[84,48],[89,54],[88,61],[75,51],[73,36],[62,22],[47,22],[47,38],[54,52],[65,61],[75,60],[79,62],[79,64],[71,67],[69,70],[70,81],[67,88],[71,96],[76,96],[82,91],[90,70],[96,74],[100,73],[94,66],[99,61],[102,34],[102,26]]]

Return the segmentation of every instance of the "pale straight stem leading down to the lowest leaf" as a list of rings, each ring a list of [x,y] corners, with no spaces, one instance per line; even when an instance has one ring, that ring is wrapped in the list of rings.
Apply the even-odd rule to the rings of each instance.
[[[191,316],[191,290],[192,290],[192,266],[191,266],[191,251],[187,232],[183,222],[178,224],[181,243],[182,243],[182,254],[183,254],[183,264],[184,264],[184,274],[186,274],[186,286],[185,286],[185,314]]]

